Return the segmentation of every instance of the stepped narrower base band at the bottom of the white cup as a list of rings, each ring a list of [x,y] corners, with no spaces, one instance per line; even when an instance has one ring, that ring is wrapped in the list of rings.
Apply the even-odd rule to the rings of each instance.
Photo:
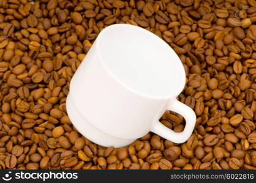
[[[70,95],[67,96],[66,108],[69,118],[77,130],[86,138],[100,146],[121,148],[130,145],[136,140],[113,137],[96,129],[96,127],[92,126],[91,123],[80,115]]]

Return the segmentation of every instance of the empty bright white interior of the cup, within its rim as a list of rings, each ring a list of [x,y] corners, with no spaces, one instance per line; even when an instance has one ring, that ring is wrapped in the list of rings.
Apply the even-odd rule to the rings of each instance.
[[[181,60],[164,40],[143,28],[115,24],[100,32],[99,58],[118,82],[139,95],[170,98],[184,88]]]

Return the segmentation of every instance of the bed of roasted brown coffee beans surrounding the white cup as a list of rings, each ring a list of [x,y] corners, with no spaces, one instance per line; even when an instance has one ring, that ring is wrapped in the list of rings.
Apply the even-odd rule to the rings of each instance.
[[[254,0],[0,0],[0,169],[255,169],[255,22]],[[186,143],[149,133],[104,148],[72,126],[70,79],[116,23],[148,29],[179,55],[178,99],[197,115]],[[161,122],[185,125],[170,111]]]

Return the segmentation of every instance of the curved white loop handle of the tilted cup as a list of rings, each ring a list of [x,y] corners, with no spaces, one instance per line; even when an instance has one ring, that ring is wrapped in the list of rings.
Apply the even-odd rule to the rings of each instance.
[[[170,101],[167,108],[168,110],[179,113],[185,118],[186,126],[184,131],[174,132],[164,126],[164,124],[160,123],[160,121],[156,121],[156,123],[153,123],[151,126],[151,132],[154,132],[155,134],[158,134],[174,143],[186,142],[195,127],[196,116],[194,111],[182,102],[179,102],[177,99],[175,99],[175,101]]]

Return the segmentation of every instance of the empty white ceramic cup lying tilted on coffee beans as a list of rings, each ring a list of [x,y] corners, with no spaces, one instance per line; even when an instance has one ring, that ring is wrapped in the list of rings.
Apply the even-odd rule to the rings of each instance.
[[[179,57],[148,30],[115,24],[102,30],[70,82],[67,113],[86,138],[101,146],[129,145],[149,131],[183,143],[195,113],[176,97],[186,82]],[[186,120],[174,132],[159,118],[166,110]]]

